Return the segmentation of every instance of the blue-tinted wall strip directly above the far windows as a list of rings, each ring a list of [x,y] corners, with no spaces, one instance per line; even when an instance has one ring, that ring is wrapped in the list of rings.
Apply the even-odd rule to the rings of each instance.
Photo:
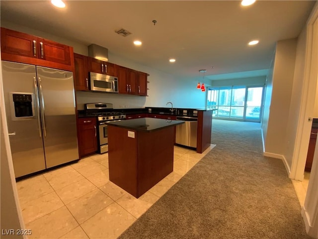
[[[266,82],[266,76],[257,77],[247,77],[247,78],[236,78],[236,79],[226,79],[226,80],[213,80],[212,87],[219,86],[259,86],[264,85]]]

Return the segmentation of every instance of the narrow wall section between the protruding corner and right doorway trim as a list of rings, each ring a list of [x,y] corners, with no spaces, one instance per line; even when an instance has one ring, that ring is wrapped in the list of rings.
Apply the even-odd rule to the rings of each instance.
[[[302,100],[306,60],[306,28],[307,27],[305,25],[297,39],[292,97],[290,102],[286,139],[284,140],[284,157],[289,167],[292,165],[294,149],[296,146],[295,141]]]

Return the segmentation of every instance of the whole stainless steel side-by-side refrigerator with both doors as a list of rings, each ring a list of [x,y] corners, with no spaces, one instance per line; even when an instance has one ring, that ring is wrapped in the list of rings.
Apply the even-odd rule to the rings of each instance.
[[[1,61],[15,177],[79,159],[73,73]]]

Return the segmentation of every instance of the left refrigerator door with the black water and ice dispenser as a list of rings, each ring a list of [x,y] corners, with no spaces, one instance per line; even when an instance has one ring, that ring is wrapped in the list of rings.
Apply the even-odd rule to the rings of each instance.
[[[35,66],[1,61],[6,121],[15,177],[45,169]],[[27,117],[15,113],[13,97],[31,96]],[[19,102],[15,102],[19,103]],[[20,106],[23,110],[23,105]],[[19,109],[16,109],[18,112]],[[21,113],[21,111],[19,112]]]

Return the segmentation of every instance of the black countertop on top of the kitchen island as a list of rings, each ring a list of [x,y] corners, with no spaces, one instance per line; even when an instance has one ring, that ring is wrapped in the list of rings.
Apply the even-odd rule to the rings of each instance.
[[[121,121],[110,121],[106,124],[137,131],[152,132],[166,127],[182,124],[184,121],[171,119],[140,118]]]

